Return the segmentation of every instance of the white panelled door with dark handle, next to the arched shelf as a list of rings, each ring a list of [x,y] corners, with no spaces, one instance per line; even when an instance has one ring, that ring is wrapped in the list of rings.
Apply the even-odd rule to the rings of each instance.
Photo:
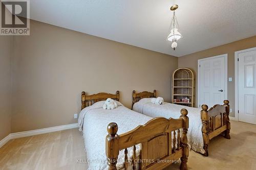
[[[227,54],[198,60],[198,106],[209,108],[227,99]]]

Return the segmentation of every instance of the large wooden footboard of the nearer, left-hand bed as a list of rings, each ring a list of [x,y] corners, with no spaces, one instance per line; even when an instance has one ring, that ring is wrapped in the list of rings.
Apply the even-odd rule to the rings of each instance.
[[[182,132],[180,132],[182,129]],[[110,123],[106,136],[106,157],[109,170],[116,168],[119,151],[124,150],[124,169],[127,169],[129,160],[127,148],[133,147],[133,169],[139,162],[139,169],[163,169],[181,158],[180,169],[187,169],[188,145],[187,145],[188,117],[187,110],[181,110],[179,119],[166,119],[158,117],[150,120],[143,126],[118,135],[116,123]],[[173,133],[173,136],[172,136]],[[136,159],[136,144],[140,144],[140,159]]]

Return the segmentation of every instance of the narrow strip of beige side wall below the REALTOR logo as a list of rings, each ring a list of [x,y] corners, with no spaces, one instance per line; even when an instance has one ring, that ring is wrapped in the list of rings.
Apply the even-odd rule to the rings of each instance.
[[[0,36],[0,140],[11,131],[12,36]]]

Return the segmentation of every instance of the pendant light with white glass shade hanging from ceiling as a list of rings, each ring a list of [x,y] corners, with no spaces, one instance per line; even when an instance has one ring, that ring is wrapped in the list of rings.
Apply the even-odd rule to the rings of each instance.
[[[171,11],[174,11],[172,22],[170,23],[170,34],[167,37],[168,41],[172,42],[172,48],[175,50],[176,47],[178,46],[177,41],[182,37],[181,33],[179,33],[179,23],[177,21],[176,15],[175,15],[175,10],[178,9],[178,5],[173,5],[170,7]]]

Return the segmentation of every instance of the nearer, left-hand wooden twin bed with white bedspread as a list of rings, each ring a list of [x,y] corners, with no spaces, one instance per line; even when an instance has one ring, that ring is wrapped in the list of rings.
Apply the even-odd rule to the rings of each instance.
[[[177,119],[152,118],[122,106],[118,102],[119,91],[93,95],[82,92],[81,98],[78,125],[89,169],[155,170],[179,162],[179,158],[180,169],[187,169],[186,109],[181,109]],[[116,100],[118,107],[104,110],[102,105],[107,98]]]

